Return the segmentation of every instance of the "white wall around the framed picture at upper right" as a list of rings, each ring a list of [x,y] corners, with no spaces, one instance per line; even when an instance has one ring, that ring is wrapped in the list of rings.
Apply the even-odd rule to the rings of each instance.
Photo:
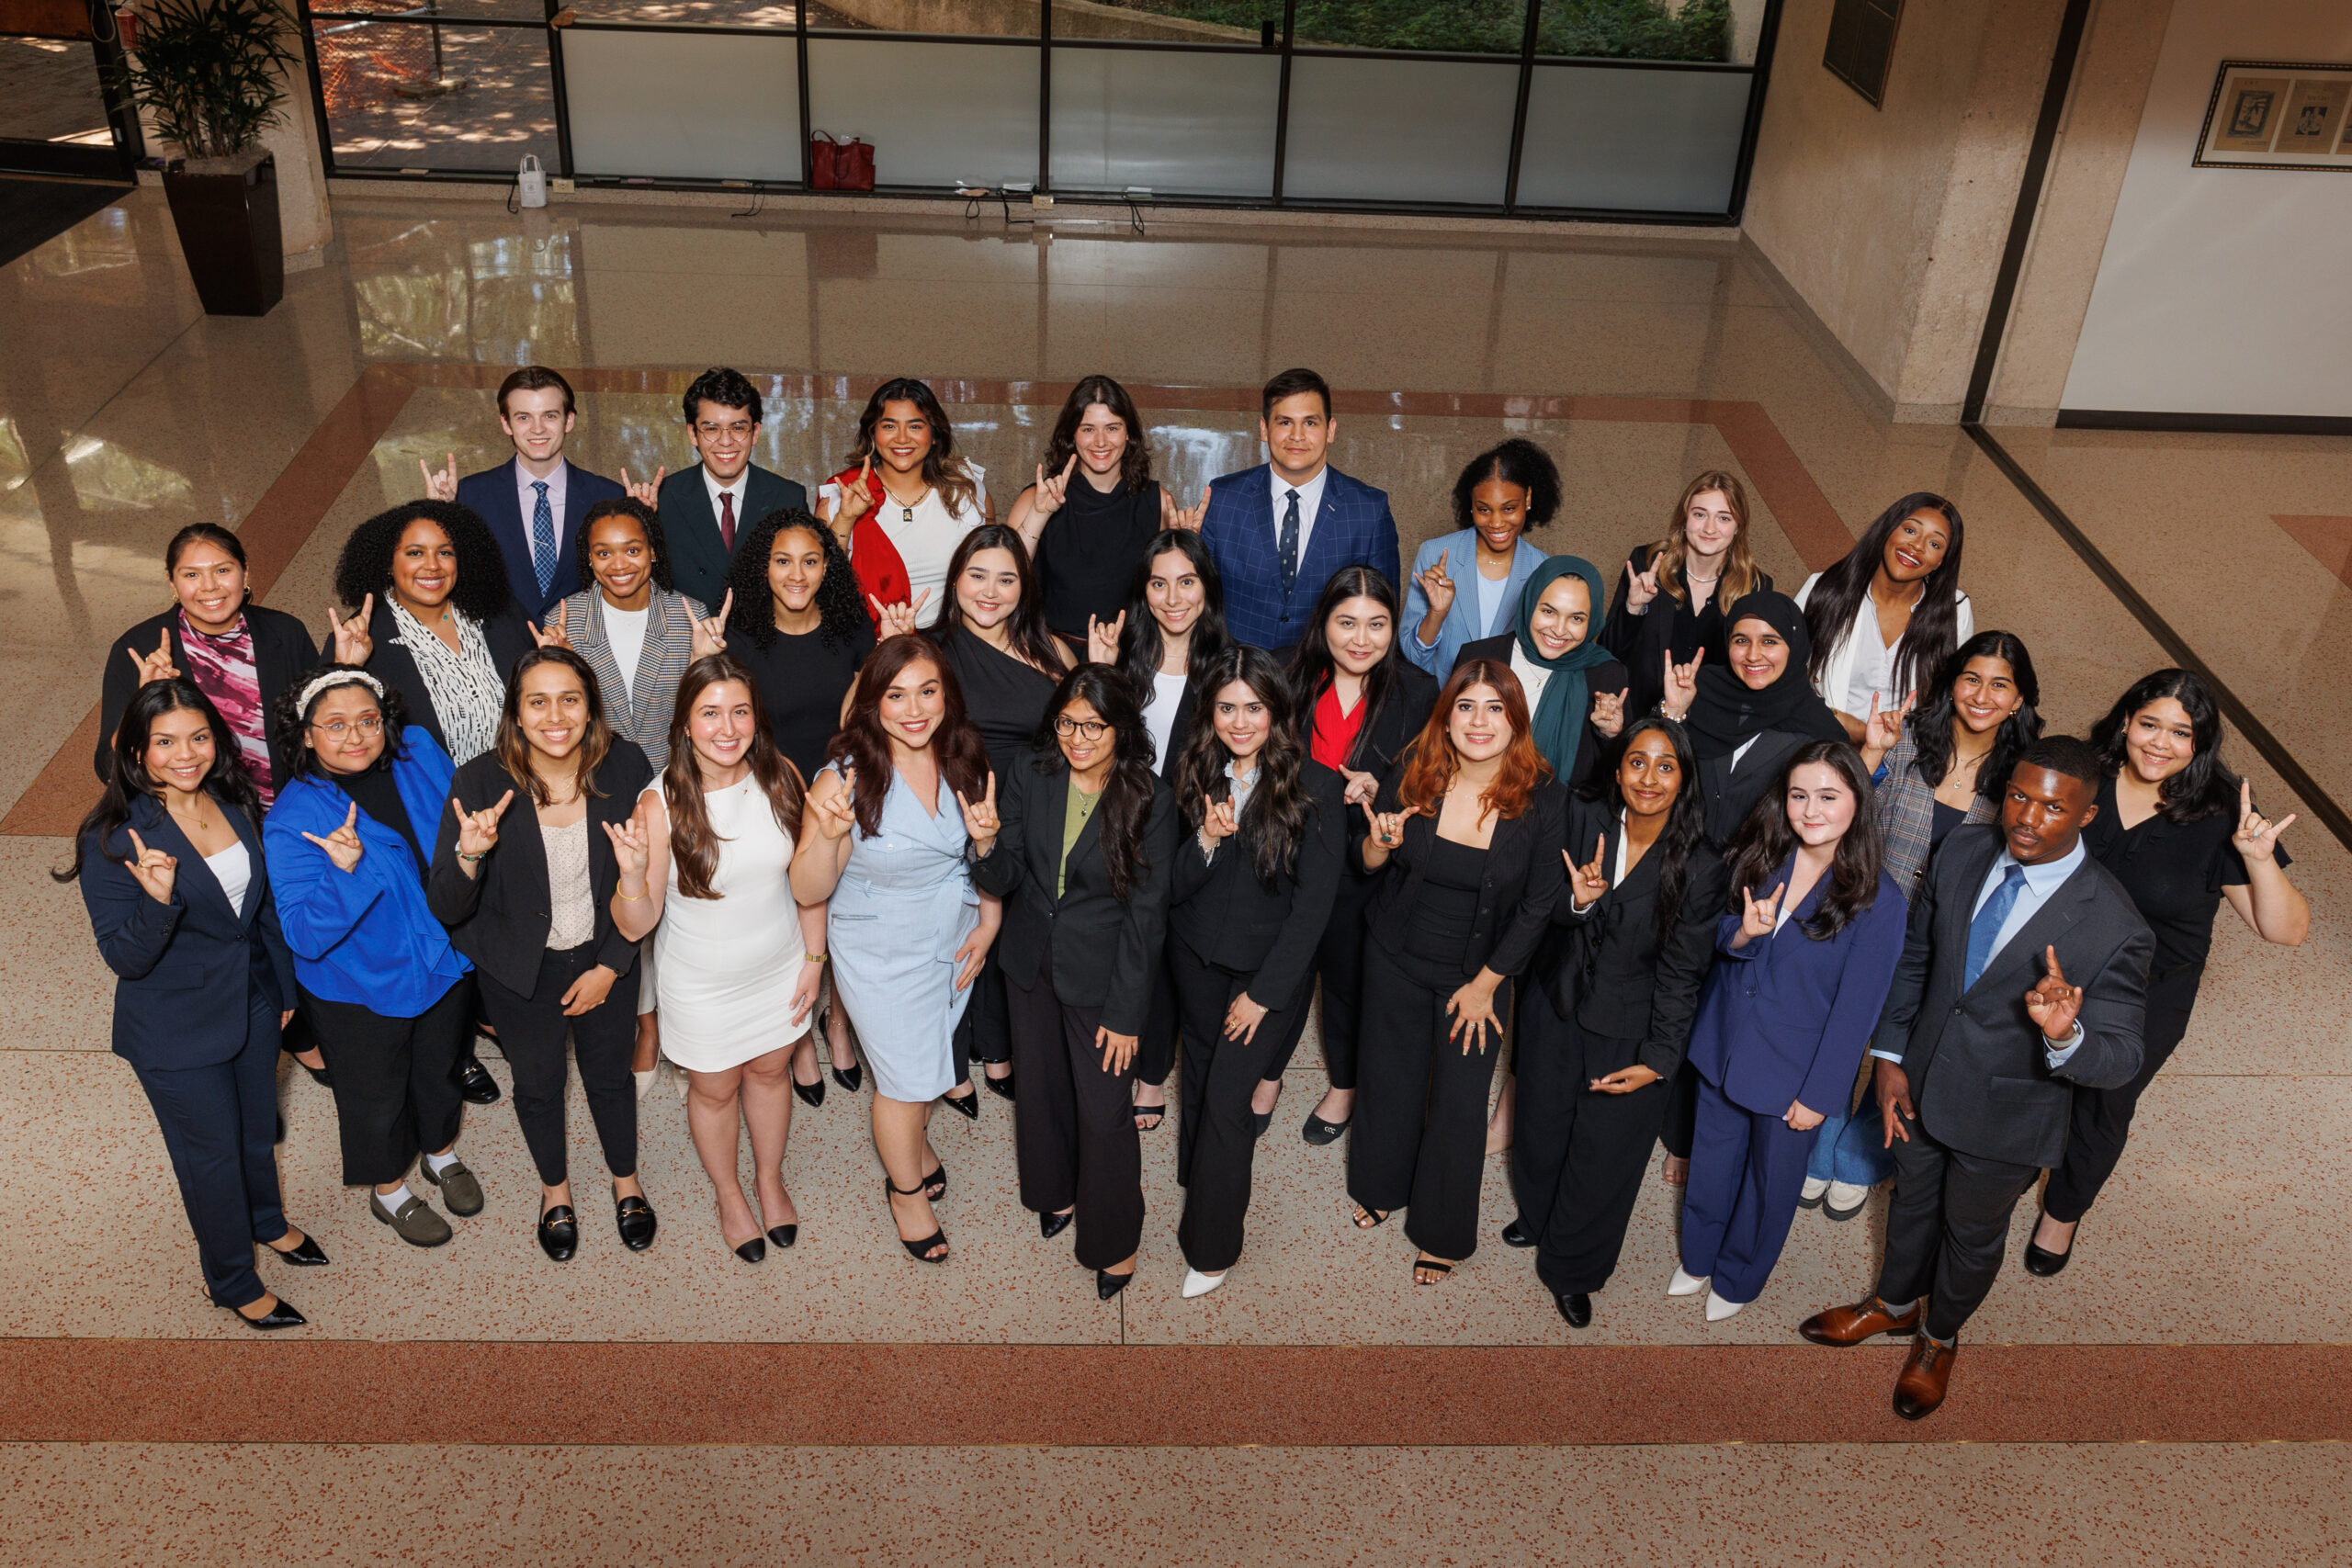
[[[2352,172],[2192,169],[2225,59],[2352,63],[2352,5],[2176,0],[2067,409],[2352,416]]]

